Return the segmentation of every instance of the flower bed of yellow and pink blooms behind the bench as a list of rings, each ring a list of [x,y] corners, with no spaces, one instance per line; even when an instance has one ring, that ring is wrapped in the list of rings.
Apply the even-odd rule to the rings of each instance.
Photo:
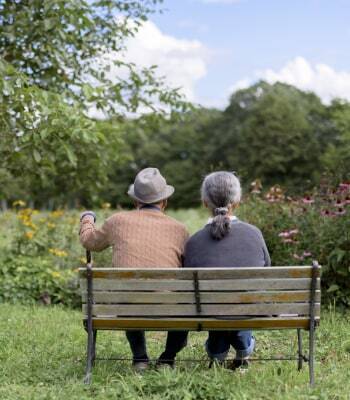
[[[98,223],[113,212],[109,207],[98,212]],[[85,262],[78,240],[79,212],[39,212],[21,201],[14,203],[13,211],[0,214],[0,301],[78,304],[76,271]],[[169,214],[191,233],[206,220],[200,209]],[[238,216],[262,230],[273,265],[317,260],[324,299],[350,306],[350,183],[324,185],[290,198],[277,186],[262,193],[260,183],[254,182]],[[94,255],[96,266],[110,261],[110,250]]]

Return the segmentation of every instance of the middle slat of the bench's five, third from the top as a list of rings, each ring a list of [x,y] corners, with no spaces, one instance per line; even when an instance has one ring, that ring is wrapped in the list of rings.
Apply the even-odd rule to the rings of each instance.
[[[316,302],[321,298],[320,291],[316,292]],[[82,301],[87,300],[86,292]],[[131,304],[193,304],[196,302],[194,292],[98,292],[93,295],[94,303],[131,303]],[[310,291],[256,291],[256,292],[203,292],[200,294],[201,303],[293,303],[310,301]]]

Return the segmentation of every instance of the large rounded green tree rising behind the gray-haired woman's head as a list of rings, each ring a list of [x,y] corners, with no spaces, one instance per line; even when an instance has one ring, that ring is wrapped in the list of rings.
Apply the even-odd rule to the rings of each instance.
[[[305,188],[318,179],[328,128],[315,94],[259,82],[232,95],[212,136],[210,160],[245,180]]]

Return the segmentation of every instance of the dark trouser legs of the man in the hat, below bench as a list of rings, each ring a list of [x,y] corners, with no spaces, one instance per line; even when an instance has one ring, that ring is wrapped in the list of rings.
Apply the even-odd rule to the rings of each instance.
[[[176,354],[182,350],[187,344],[186,331],[170,331],[166,339],[165,351],[161,354],[159,359],[165,363],[172,364]],[[133,355],[133,361],[148,362],[148,354],[146,348],[145,331],[126,331],[126,337],[129,341],[130,348]]]

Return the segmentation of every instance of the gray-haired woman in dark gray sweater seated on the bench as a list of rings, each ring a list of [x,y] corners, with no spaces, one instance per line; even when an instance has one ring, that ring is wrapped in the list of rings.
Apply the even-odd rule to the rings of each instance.
[[[203,229],[186,244],[184,267],[239,268],[270,265],[264,238],[258,228],[234,216],[241,185],[230,172],[213,172],[203,181],[202,201],[212,214]],[[248,366],[255,339],[251,331],[209,332],[206,350],[211,360],[225,360],[230,346],[236,350],[231,368]]]

